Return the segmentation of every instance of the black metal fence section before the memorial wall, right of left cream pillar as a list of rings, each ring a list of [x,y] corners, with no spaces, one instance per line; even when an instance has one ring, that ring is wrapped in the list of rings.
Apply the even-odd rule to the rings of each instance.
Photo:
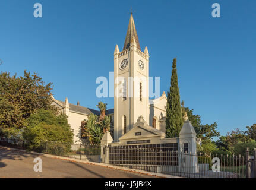
[[[175,143],[110,146],[103,150],[109,155],[109,164],[130,169],[187,178],[246,178],[248,162],[241,155],[181,153]]]

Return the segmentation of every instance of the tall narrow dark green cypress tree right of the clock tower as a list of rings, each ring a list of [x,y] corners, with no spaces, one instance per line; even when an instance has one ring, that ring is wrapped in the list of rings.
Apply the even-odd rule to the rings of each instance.
[[[166,105],[166,137],[179,137],[183,125],[181,102],[179,97],[176,58],[172,62],[172,77]]]

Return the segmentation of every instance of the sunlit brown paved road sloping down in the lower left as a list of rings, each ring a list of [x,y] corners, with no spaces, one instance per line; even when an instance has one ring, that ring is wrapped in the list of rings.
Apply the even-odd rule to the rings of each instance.
[[[34,172],[34,158],[42,159],[42,172]],[[0,178],[152,178],[132,172],[52,159],[0,147]]]

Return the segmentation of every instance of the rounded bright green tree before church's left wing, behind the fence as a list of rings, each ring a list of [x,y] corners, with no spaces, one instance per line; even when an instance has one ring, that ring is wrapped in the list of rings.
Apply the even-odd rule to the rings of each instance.
[[[23,131],[23,138],[29,143],[30,149],[39,148],[43,141],[72,143],[73,136],[66,115],[55,115],[52,110],[44,109],[30,115]]]

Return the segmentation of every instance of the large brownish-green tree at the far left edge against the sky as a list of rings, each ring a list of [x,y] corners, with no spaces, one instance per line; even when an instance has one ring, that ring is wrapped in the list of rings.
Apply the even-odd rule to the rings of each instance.
[[[27,118],[36,110],[55,110],[51,105],[52,83],[45,83],[37,74],[24,71],[23,77],[0,73],[1,135],[15,136],[27,126]]]

